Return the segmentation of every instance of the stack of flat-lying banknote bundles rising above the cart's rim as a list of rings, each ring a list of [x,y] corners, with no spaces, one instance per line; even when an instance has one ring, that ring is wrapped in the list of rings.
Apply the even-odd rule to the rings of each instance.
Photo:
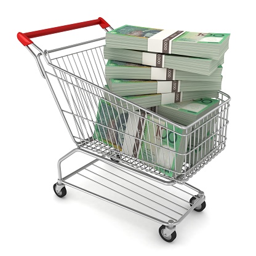
[[[179,102],[214,97],[210,91],[222,87],[229,38],[227,33],[121,26],[106,33],[106,82],[111,92],[122,97],[168,94],[167,98],[179,92]],[[187,98],[187,92],[195,93]],[[129,100],[137,102],[137,97]]]

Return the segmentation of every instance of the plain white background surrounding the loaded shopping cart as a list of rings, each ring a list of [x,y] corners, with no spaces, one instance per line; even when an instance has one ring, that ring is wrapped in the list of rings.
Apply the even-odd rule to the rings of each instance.
[[[1,255],[255,252],[256,38],[250,2],[156,1],[150,5],[142,1],[45,0],[35,6],[35,1],[24,0],[2,4]],[[57,160],[74,145],[46,81],[16,34],[98,17],[113,28],[129,24],[231,33],[222,84],[232,98],[227,146],[190,180],[206,193],[207,207],[178,225],[177,239],[170,244],[159,237],[158,223],[71,188],[63,199],[52,190]],[[84,29],[82,40],[104,36],[100,28],[97,33],[88,34]],[[71,36],[65,38],[62,33],[33,41],[42,49],[53,49],[80,40],[67,35]],[[80,158],[88,161],[85,156]]]

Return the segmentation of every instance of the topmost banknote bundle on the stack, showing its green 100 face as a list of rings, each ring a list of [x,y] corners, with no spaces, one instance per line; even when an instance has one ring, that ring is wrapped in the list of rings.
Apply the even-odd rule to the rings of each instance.
[[[230,34],[160,30],[124,25],[106,33],[110,48],[142,50],[219,60],[228,50]]]

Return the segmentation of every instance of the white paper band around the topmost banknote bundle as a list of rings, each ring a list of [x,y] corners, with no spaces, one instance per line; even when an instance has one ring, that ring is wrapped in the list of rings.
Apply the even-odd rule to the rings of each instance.
[[[172,53],[172,41],[185,31],[162,30],[148,38],[148,52],[162,52],[163,54]]]

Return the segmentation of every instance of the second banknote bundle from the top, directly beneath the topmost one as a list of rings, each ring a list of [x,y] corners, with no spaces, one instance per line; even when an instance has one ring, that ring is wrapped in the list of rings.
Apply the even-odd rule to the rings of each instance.
[[[158,54],[138,50],[115,49],[104,47],[104,57],[108,60],[121,60],[160,68],[172,68],[186,72],[209,76],[224,62],[224,57],[219,60],[209,58],[188,57],[172,54]]]

